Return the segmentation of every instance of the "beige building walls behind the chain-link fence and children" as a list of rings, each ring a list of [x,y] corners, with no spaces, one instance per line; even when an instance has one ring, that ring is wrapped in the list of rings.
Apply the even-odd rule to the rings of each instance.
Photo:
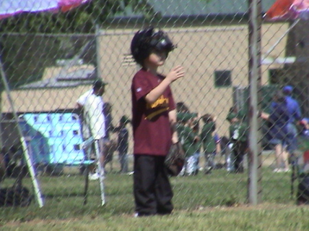
[[[262,26],[262,53],[266,53],[288,29],[288,23],[264,24]],[[184,101],[192,112],[211,113],[218,117],[218,134],[228,136],[229,124],[225,120],[233,104],[233,87],[216,88],[215,71],[231,71],[233,86],[248,85],[248,27],[181,27],[164,28],[177,48],[170,53],[160,71],[168,71],[176,65],[186,70],[183,80],[172,84],[176,101]],[[130,59],[130,40],[137,30],[102,31],[98,37],[99,71],[108,86],[104,101],[113,105],[113,122],[131,114],[130,84],[139,67]],[[286,38],[273,49],[270,56],[284,57]],[[268,69],[280,65],[262,66],[262,84],[268,84]],[[54,69],[60,71],[60,69]],[[44,78],[55,76],[45,73]],[[14,107],[19,112],[47,111],[74,108],[76,99],[91,86],[43,90],[13,90]],[[6,94],[2,94],[3,112],[12,112]]]

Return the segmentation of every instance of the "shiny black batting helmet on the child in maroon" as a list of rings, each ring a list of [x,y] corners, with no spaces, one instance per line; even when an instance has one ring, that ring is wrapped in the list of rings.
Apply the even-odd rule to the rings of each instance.
[[[152,49],[169,53],[175,47],[165,32],[161,30],[155,31],[153,27],[147,27],[135,34],[130,48],[135,61],[143,65],[144,60],[150,55]]]

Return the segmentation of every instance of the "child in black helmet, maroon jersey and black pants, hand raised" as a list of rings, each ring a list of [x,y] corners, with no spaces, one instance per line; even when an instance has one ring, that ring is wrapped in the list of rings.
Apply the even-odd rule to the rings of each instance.
[[[184,76],[182,66],[168,75],[157,72],[175,48],[168,35],[152,27],[140,30],[131,42],[131,53],[141,69],[131,86],[135,216],[172,212],[172,188],[164,165],[172,143],[178,142],[176,106],[170,84]]]

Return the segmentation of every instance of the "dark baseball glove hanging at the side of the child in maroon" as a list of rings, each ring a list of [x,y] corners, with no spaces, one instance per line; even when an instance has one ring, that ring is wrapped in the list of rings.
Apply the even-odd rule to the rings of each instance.
[[[181,143],[172,144],[168,151],[168,155],[165,157],[164,164],[171,176],[176,176],[181,172],[185,164],[185,152],[183,151]]]

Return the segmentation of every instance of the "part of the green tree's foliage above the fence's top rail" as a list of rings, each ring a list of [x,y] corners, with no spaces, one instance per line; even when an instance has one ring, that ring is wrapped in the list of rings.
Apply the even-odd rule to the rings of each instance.
[[[22,0],[21,0],[22,1]],[[91,0],[69,12],[23,13],[0,21],[0,32],[24,33],[91,33],[94,25],[122,13],[126,8],[139,12],[145,19],[155,15],[147,0]]]

